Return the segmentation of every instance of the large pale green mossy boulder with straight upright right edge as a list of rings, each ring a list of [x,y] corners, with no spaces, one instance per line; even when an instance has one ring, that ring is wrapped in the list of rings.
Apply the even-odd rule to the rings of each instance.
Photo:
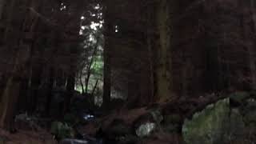
[[[192,120],[186,119],[182,135],[188,144],[225,143],[229,130],[230,99],[226,98],[194,114]]]

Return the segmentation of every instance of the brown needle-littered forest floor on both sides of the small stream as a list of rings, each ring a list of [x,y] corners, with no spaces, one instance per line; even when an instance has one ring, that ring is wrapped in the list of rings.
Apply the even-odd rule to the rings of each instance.
[[[193,114],[204,110],[209,104],[229,97],[222,95],[226,94],[208,94],[201,98],[180,98],[132,110],[117,108],[73,128],[78,134],[85,136],[85,139],[95,138],[95,142],[104,139],[106,142],[117,143],[180,144],[183,143],[181,130],[185,119],[192,118]],[[250,95],[254,96],[254,94]],[[0,129],[0,144],[58,143],[54,140],[53,134],[49,132],[49,127],[46,130],[46,126],[40,127],[41,125],[34,123],[35,126],[30,126],[30,122],[16,122],[14,133]],[[155,124],[154,133],[149,137],[141,137],[137,130],[146,123]]]

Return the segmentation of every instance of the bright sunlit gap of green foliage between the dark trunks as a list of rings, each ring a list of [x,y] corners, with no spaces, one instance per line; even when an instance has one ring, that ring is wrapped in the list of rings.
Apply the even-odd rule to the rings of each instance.
[[[97,7],[97,9],[95,8]],[[81,46],[80,62],[76,90],[87,94],[98,93],[102,90],[103,81],[103,45],[104,35],[102,34],[102,6],[98,3],[91,7],[93,17],[89,15],[82,18],[80,34],[84,38]],[[86,22],[90,19],[90,22]],[[84,23],[85,22],[85,23]],[[95,84],[98,84],[95,88]],[[94,91],[96,90],[96,91]]]

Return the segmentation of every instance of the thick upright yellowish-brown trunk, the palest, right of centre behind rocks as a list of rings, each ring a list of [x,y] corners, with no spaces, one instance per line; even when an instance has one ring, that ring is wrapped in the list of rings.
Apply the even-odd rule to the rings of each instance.
[[[158,7],[158,33],[160,38],[160,47],[157,49],[157,96],[160,102],[171,98],[171,79],[170,79],[170,26],[169,24],[169,6],[167,0],[161,0]]]

